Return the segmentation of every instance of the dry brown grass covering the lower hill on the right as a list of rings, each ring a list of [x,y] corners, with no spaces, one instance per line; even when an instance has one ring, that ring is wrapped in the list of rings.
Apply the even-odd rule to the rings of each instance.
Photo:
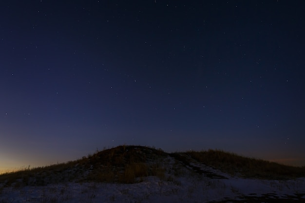
[[[265,160],[239,156],[222,150],[188,151],[191,158],[226,173],[247,178],[287,179],[305,177],[305,167],[286,166]]]

